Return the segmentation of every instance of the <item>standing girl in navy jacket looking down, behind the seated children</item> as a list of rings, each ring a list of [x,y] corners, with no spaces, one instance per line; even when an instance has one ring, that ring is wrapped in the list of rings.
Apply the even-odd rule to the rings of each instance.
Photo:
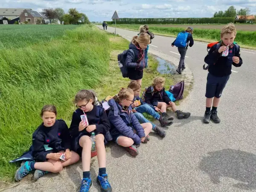
[[[140,33],[139,36],[134,36],[129,44],[129,49],[133,50],[134,55],[129,51],[126,58],[128,78],[131,81],[137,81],[140,85],[143,78],[143,69],[147,64],[145,49],[148,44],[150,44],[150,36],[147,33]]]

